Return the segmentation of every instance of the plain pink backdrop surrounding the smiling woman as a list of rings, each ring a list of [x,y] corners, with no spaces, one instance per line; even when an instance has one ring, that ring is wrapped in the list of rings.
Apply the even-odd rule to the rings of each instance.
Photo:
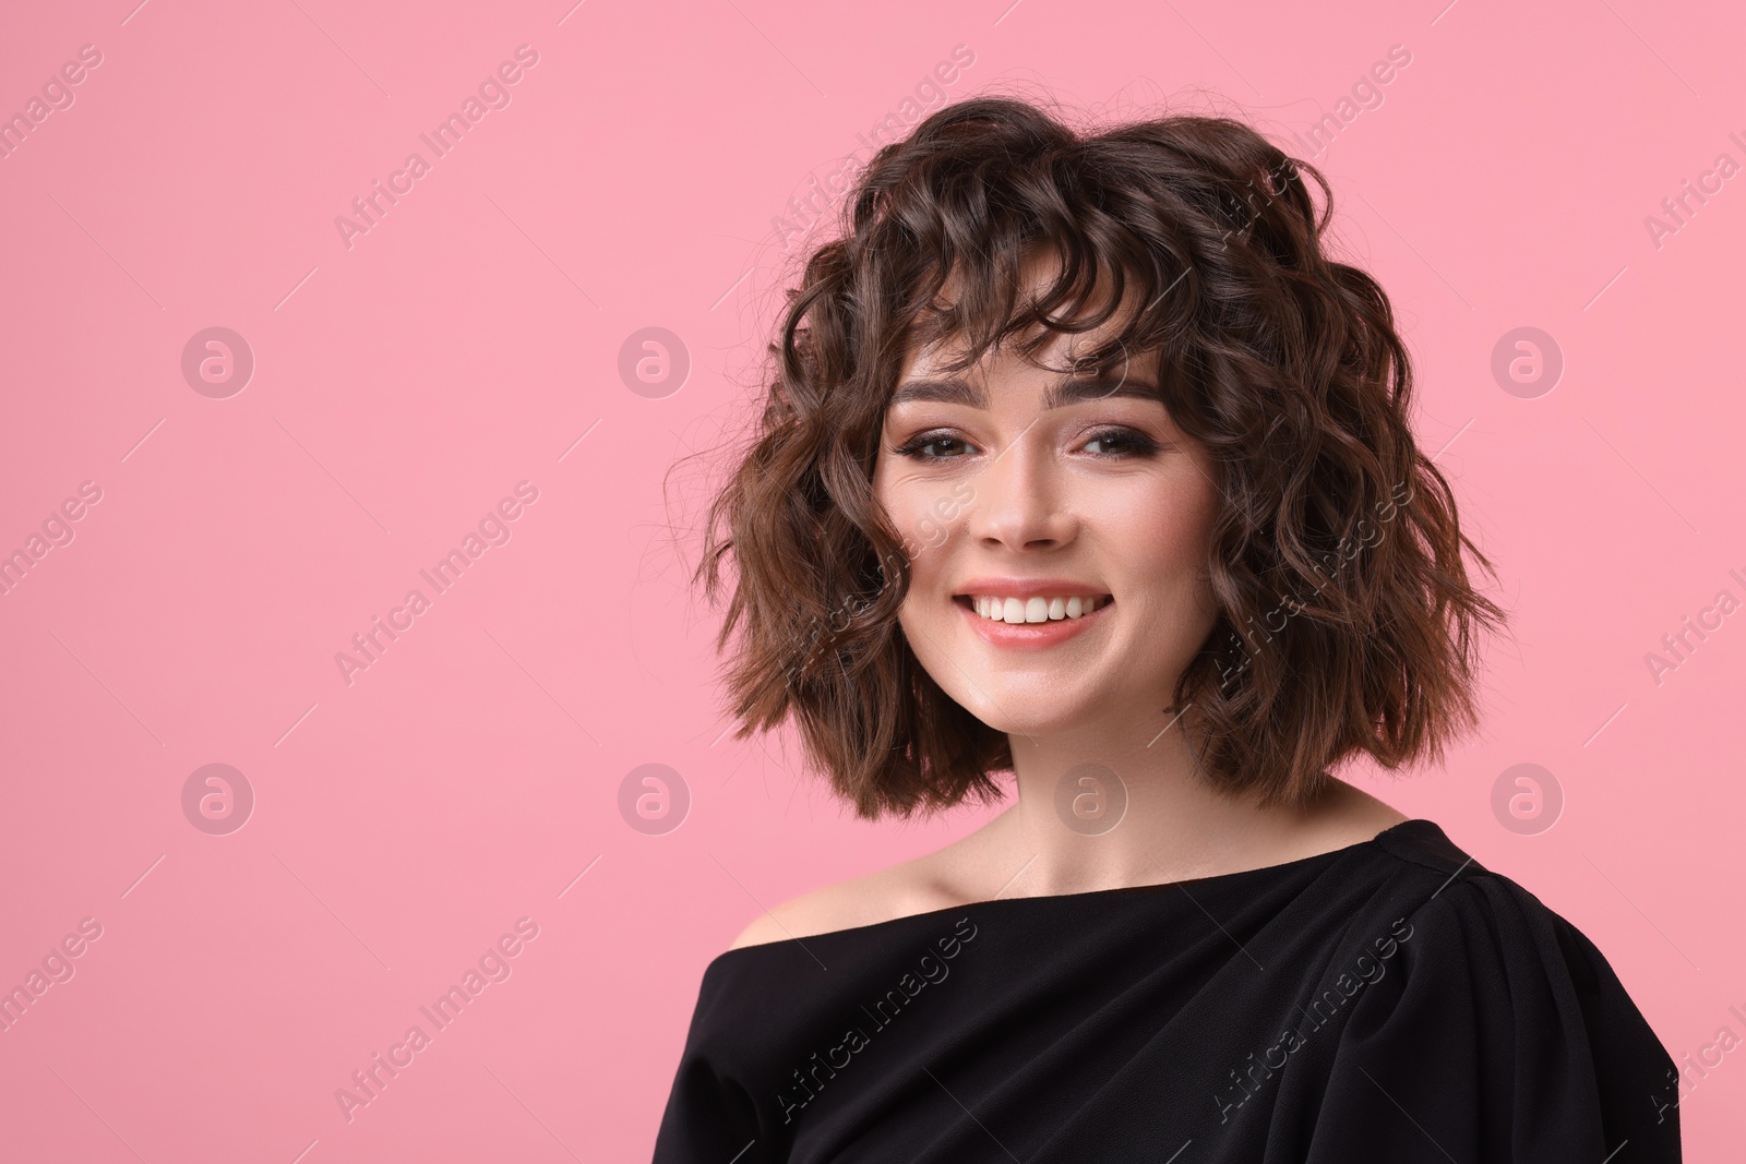
[[[1746,614],[1659,684],[1645,663],[1746,599],[1746,178],[1659,246],[1645,225],[1746,162],[1737,14],[134,3],[14,5],[0,37],[0,113],[103,54],[0,159],[0,553],[101,489],[0,595],[0,986],[103,927],[0,1033],[9,1159],[646,1159],[698,976],[760,904],[978,822],[854,822],[793,742],[723,738],[686,586],[709,462],[674,468],[746,417],[800,250],[773,220],[955,45],[953,99],[1217,98],[1299,155],[1411,52],[1313,161],[1517,616],[1482,733],[1353,778],[1587,932],[1676,1059],[1746,1037]],[[512,103],[431,161],[419,134],[522,44]],[[430,173],[347,248],[335,216],[414,150]],[[223,400],[180,368],[210,326],[257,363]],[[691,356],[662,398],[618,373],[646,326]],[[1517,326],[1564,354],[1549,394],[1491,375]],[[524,480],[512,539],[347,684],[335,653]],[[257,798],[225,836],[182,808],[210,763]],[[662,836],[618,810],[644,763],[691,796]],[[1519,763],[1563,789],[1549,831],[1493,815]],[[512,976],[347,1122],[335,1089],[524,916]],[[1692,1078],[1688,1159],[1737,1154],[1746,1052]]]

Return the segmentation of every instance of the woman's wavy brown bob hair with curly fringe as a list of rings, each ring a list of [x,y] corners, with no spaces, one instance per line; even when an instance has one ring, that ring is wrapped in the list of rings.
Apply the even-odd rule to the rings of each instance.
[[[732,553],[716,649],[735,642],[737,736],[793,716],[859,817],[1000,799],[1006,735],[941,691],[897,623],[917,546],[871,489],[885,405],[911,346],[959,340],[953,372],[1011,344],[1032,359],[1051,332],[1145,304],[1076,363],[1158,353],[1172,421],[1219,471],[1219,620],[1168,707],[1159,693],[1201,777],[1303,803],[1358,752],[1440,759],[1477,722],[1479,632],[1505,613],[1468,583],[1463,550],[1495,571],[1414,443],[1388,298],[1323,253],[1330,218],[1313,166],[1227,117],[1079,134],[985,96],[882,147],[787,291],[765,408],[709,506],[695,578],[714,604]],[[1020,302],[1039,253],[1056,274]]]

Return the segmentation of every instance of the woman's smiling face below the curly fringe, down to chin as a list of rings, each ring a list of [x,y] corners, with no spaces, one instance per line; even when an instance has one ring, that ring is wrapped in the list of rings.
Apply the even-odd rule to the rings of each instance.
[[[1213,466],[1158,401],[1156,354],[1105,380],[1067,372],[1102,335],[959,377],[911,351],[885,414],[873,489],[911,558],[899,623],[999,731],[1163,728],[1217,618]]]

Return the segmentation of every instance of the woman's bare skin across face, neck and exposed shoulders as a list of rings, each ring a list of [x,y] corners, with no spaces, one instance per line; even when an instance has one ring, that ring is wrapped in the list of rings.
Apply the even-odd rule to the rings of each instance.
[[[1079,337],[1056,333],[1041,356],[1048,366],[990,353],[960,375],[957,393],[906,393],[941,363],[939,353],[911,351],[880,438],[875,494],[904,539],[922,546],[899,623],[941,689],[1007,733],[1016,803],[934,853],[777,906],[735,948],[993,897],[1259,869],[1406,820],[1341,780],[1308,805],[1262,808],[1194,773],[1166,705],[1215,621],[1205,572],[1212,464],[1163,403],[1116,387],[1154,384],[1156,353],[1086,398],[1044,408],[1044,394],[1074,379],[1074,353],[1091,351],[1119,319]],[[1062,579],[1072,585],[1046,593],[1112,602],[1053,646],[997,646],[955,599],[973,579]],[[1056,811],[1056,787],[1088,763],[1114,771],[1128,798],[1119,824],[1095,836]]]

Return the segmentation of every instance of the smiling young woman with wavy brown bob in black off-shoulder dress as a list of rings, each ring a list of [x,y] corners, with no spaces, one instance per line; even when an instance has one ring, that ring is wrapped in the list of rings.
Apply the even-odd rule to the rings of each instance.
[[[850,206],[712,513],[732,707],[864,817],[1014,801],[754,920],[655,1159],[1678,1161],[1601,953],[1330,775],[1440,757],[1503,613],[1322,175],[985,98]]]

